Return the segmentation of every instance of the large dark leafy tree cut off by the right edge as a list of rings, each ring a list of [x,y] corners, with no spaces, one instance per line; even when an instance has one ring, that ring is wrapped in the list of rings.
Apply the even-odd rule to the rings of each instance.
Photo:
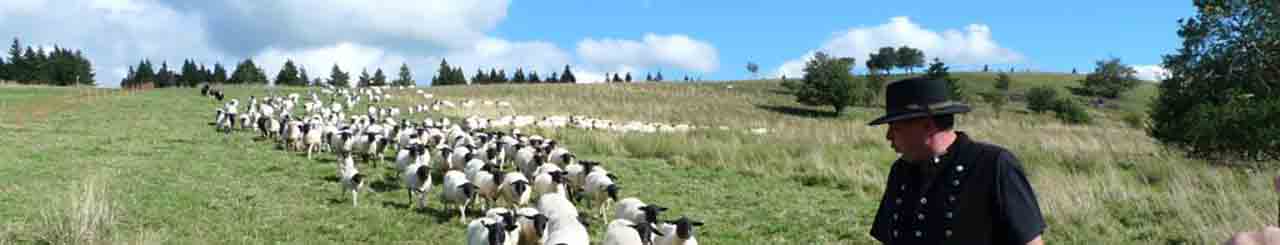
[[[1280,6],[1275,1],[1196,1],[1179,21],[1181,47],[1148,133],[1197,158],[1280,159]]]

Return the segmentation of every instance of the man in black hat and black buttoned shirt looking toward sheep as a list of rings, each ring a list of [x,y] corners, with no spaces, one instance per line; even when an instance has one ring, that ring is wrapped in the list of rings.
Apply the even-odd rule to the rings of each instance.
[[[1021,163],[1001,146],[952,130],[968,105],[947,85],[908,78],[888,85],[887,139],[893,162],[872,236],[884,244],[1043,244],[1047,227]]]

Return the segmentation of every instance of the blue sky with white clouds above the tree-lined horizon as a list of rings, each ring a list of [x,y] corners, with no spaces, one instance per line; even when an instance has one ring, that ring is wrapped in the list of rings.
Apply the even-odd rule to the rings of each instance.
[[[659,71],[667,80],[800,77],[815,51],[861,64],[902,45],[952,71],[1083,73],[1120,58],[1156,80],[1161,55],[1179,47],[1178,19],[1193,14],[1189,1],[1169,0],[4,0],[0,38],[79,49],[108,87],[141,59],[233,69],[251,58],[268,77],[285,60],[311,77],[333,65],[390,76],[408,64],[421,85],[440,59],[468,77],[564,65],[580,81]]]

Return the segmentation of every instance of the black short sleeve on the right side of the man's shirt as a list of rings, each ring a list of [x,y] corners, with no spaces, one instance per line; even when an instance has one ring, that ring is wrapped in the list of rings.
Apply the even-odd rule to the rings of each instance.
[[[996,164],[997,222],[1007,228],[1010,244],[1027,244],[1048,226],[1041,215],[1036,191],[1023,173],[1021,162],[1012,153],[1002,150]]]

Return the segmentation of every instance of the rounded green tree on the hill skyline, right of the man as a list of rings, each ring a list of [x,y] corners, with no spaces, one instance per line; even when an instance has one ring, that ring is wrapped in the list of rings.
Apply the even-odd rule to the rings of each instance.
[[[1085,74],[1080,81],[1083,87],[1075,90],[1084,96],[1103,96],[1108,99],[1120,97],[1121,94],[1138,87],[1138,71],[1120,63],[1120,58],[1098,60],[1093,73]]]

